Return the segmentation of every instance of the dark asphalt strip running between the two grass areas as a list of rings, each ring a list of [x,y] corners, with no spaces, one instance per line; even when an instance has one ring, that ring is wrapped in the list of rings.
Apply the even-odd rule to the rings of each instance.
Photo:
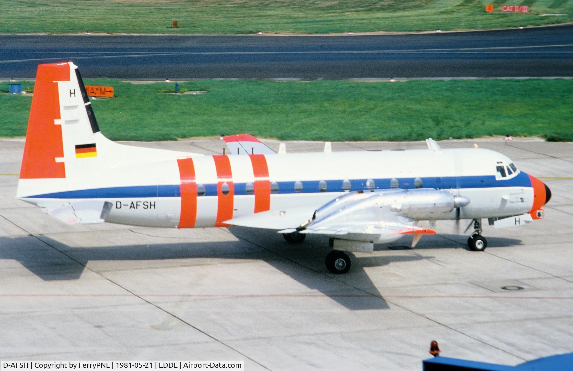
[[[0,77],[72,60],[84,77],[573,76],[573,25],[383,36],[0,36]]]

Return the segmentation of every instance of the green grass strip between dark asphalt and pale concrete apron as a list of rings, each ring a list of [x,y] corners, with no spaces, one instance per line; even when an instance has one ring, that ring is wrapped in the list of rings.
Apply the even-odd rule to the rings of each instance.
[[[112,85],[93,100],[113,140],[253,134],[301,140],[421,140],[488,135],[573,140],[573,80],[191,81],[201,95],[160,93],[173,83]],[[23,81],[23,88],[32,88]],[[7,92],[8,84],[0,84]],[[0,136],[26,134],[29,96],[0,93]]]

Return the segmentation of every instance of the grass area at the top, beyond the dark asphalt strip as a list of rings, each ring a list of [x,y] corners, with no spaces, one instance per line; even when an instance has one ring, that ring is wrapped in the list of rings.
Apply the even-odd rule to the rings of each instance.
[[[501,13],[508,4],[529,13]],[[0,10],[0,33],[409,32],[573,21],[573,0],[0,0]]]

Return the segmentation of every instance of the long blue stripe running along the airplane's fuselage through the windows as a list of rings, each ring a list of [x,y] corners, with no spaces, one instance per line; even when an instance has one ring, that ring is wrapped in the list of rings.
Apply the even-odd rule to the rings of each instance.
[[[415,178],[398,178],[399,188],[413,189]],[[496,180],[494,175],[473,175],[469,177],[426,177],[422,179],[423,188],[496,188],[496,187],[531,187],[531,179],[523,172],[511,179]],[[342,182],[344,179],[327,180],[325,192],[343,192]],[[352,190],[366,189],[367,179],[352,179]],[[390,188],[391,178],[374,179],[375,189]],[[319,181],[302,181],[302,193],[320,193]],[[217,184],[203,184],[205,196],[217,196]],[[246,183],[234,183],[234,191],[237,196],[246,195]],[[278,194],[295,193],[295,182],[278,182]],[[28,196],[29,198],[151,198],[151,197],[179,197],[179,185],[146,185],[81,189],[65,192],[44,193]]]

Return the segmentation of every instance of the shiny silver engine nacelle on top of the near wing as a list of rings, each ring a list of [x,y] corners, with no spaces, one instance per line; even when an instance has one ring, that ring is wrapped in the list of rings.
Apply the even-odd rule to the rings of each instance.
[[[455,208],[468,205],[469,198],[454,196],[439,189],[392,189],[381,191],[358,191],[345,194],[328,202],[313,214],[311,224],[325,226],[341,222],[383,222],[395,221],[396,217],[410,220],[438,219],[440,214],[452,212]]]

